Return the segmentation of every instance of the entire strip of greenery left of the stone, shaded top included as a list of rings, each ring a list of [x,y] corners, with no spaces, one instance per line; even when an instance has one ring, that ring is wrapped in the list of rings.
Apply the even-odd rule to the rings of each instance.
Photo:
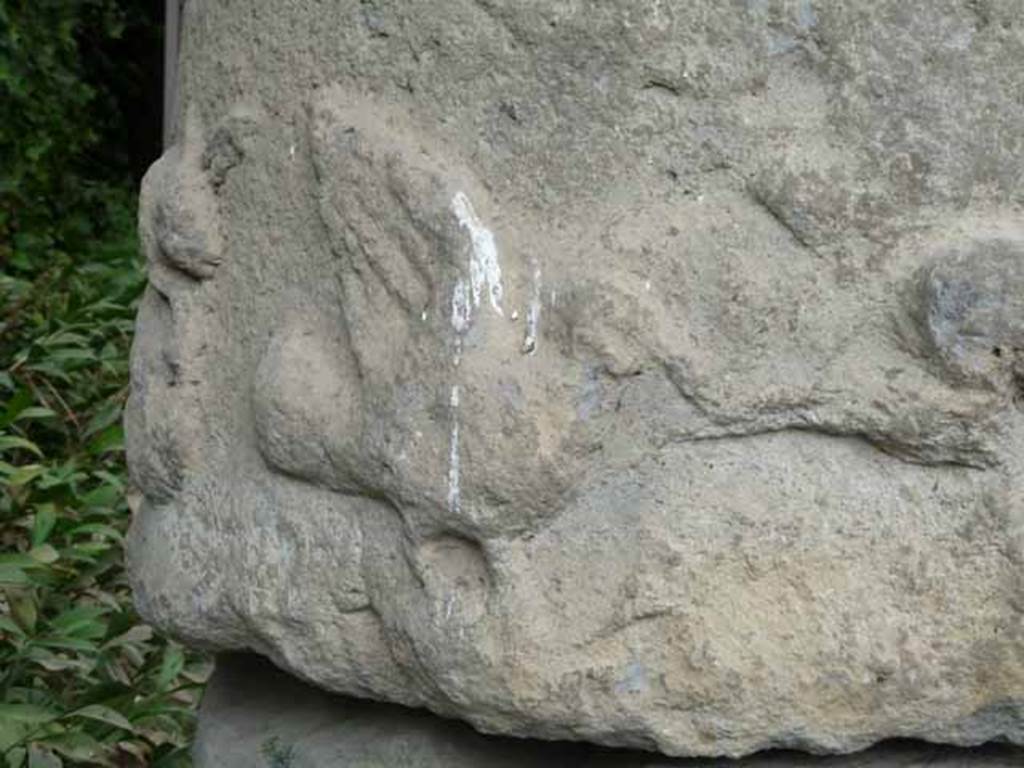
[[[89,73],[142,5],[0,0],[0,766],[185,765],[207,674],[123,567],[137,169]]]

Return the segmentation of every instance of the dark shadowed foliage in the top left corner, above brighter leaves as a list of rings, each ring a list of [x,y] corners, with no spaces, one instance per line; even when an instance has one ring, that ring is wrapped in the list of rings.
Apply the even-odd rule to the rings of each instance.
[[[102,118],[80,41],[123,31],[117,0],[0,0],[0,261],[31,269],[102,226],[105,193],[83,174]]]

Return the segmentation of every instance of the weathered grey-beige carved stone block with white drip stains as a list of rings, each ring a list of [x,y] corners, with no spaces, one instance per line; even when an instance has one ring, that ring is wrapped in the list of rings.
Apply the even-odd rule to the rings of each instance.
[[[148,620],[488,732],[1024,741],[1019,0],[183,25]]]

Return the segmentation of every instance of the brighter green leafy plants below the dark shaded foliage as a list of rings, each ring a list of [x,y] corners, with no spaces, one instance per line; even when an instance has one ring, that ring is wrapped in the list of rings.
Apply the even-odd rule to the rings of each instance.
[[[118,207],[120,206],[120,207]],[[206,667],[139,623],[123,570],[121,411],[142,287],[132,211],[34,281],[0,275],[0,753],[184,765]],[[3,765],[3,763],[0,763]]]

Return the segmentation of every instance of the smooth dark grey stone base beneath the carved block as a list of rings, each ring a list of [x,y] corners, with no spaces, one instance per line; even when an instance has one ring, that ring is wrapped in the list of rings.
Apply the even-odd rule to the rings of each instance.
[[[332,696],[255,656],[222,656],[203,701],[196,768],[1020,768],[1024,749],[887,742],[847,756],[772,752],[671,760],[485,736],[429,713]]]

